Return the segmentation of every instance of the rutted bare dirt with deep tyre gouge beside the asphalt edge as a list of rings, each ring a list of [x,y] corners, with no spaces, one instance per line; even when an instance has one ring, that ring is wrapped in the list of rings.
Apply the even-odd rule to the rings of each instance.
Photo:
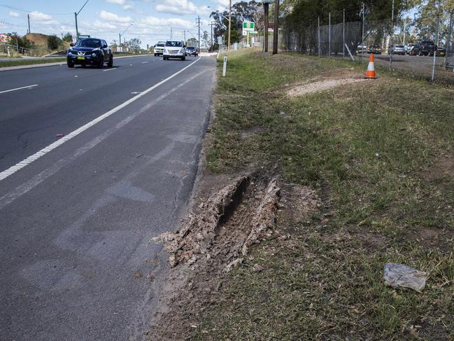
[[[188,340],[201,312],[222,299],[226,273],[249,257],[255,244],[291,238],[279,234],[276,221],[288,223],[288,212],[292,221],[306,220],[320,204],[313,190],[281,184],[270,174],[203,176],[190,217],[176,233],[158,237],[171,269],[148,340]]]

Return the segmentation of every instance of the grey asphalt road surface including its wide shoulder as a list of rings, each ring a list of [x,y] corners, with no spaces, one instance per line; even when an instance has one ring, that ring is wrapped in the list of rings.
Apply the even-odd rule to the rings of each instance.
[[[1,74],[0,340],[141,340],[208,123],[196,60]]]

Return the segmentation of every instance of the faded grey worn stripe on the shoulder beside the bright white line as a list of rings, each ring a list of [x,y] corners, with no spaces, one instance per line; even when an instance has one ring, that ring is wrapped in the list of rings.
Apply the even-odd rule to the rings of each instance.
[[[197,60],[196,60],[196,62],[197,62]],[[192,63],[192,64],[194,64],[194,63]],[[181,70],[181,71],[183,71],[183,70]],[[111,127],[110,129],[106,130],[102,134],[100,134],[97,137],[95,137],[94,139],[92,139],[92,141],[90,141],[87,144],[78,148],[71,155],[68,155],[65,158],[58,160],[57,162],[55,162],[54,165],[44,169],[41,173],[38,173],[35,176],[33,176],[31,179],[25,181],[20,186],[18,186],[14,190],[12,190],[10,193],[3,195],[3,197],[0,197],[0,209],[3,209],[3,207],[5,207],[7,204],[10,204],[14,200],[16,200],[17,197],[24,195],[29,190],[32,190],[33,188],[38,186],[45,179],[48,179],[49,176],[52,176],[53,174],[57,173],[63,167],[66,167],[67,165],[69,165],[71,162],[76,160],[80,155],[83,155],[87,151],[90,151],[91,148],[93,148],[94,146],[97,146],[97,144],[99,144],[101,141],[104,141],[104,139],[111,136],[111,134],[113,134],[117,130],[120,130],[122,127],[127,125],[129,122],[134,120],[134,118],[137,118],[137,117],[141,116],[141,114],[146,113],[146,111],[148,111],[152,106],[157,104],[159,101],[168,97],[169,95],[171,95],[173,92],[175,92],[179,88],[182,88],[183,86],[187,85],[187,83],[190,83],[190,81],[194,80],[201,74],[204,74],[204,72],[206,72],[206,69],[204,71],[199,72],[198,74],[195,74],[191,78],[187,79],[185,82],[180,83],[175,88],[173,88],[173,89],[169,90],[168,92],[162,94],[161,96],[157,97],[152,102],[146,104],[146,106],[143,106],[143,108],[141,108],[139,111],[136,111],[135,113],[132,113],[131,115],[127,116],[127,118],[120,121],[120,123],[117,123],[114,127]],[[44,149],[46,149],[46,148],[44,148]],[[43,149],[43,151],[44,151],[44,149]],[[39,156],[36,156],[36,159],[37,158],[39,158]]]

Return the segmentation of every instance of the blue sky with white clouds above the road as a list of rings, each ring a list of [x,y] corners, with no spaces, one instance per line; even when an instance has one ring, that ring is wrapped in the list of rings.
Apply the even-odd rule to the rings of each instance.
[[[0,33],[76,34],[74,12],[86,0],[0,0]],[[236,2],[236,1],[232,1]],[[89,0],[78,15],[79,34],[106,39],[109,43],[139,38],[142,47],[157,41],[197,36],[197,16],[201,32],[211,32],[209,15],[224,10],[229,0]]]

